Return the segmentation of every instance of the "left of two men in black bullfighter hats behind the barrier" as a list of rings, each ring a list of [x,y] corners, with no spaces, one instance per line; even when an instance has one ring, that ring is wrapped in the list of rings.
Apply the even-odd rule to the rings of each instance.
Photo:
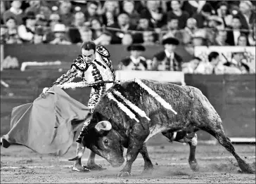
[[[127,51],[130,52],[130,56],[121,60],[118,65],[119,70],[147,70],[146,58],[141,56],[146,48],[141,45],[130,45],[127,47]]]

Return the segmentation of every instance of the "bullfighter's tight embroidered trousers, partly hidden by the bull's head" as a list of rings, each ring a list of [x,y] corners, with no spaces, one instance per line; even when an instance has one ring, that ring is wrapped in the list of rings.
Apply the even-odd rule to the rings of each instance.
[[[105,93],[105,85],[104,86],[96,86],[91,88],[91,94],[90,99],[88,102],[88,107],[91,109],[91,113],[94,111],[94,107],[96,103],[98,103],[98,100],[101,98],[101,96]],[[82,131],[79,133],[79,136],[76,140],[77,143],[82,143],[82,138],[85,133],[87,133],[87,127],[90,124],[91,121],[85,121],[84,126],[82,128]]]

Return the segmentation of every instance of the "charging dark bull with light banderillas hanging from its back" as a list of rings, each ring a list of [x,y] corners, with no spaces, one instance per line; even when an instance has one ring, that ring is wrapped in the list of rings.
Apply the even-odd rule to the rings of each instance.
[[[148,91],[145,85],[158,96]],[[171,108],[166,107],[166,102]],[[129,176],[132,163],[139,153],[145,162],[144,171],[153,169],[145,143],[155,134],[162,133],[171,141],[189,144],[188,163],[193,171],[197,171],[196,131],[199,130],[210,133],[231,152],[241,171],[255,172],[236,153],[230,139],[225,136],[222,119],[215,108],[198,88],[192,86],[148,80],[115,84],[96,105],[82,143],[112,166],[124,163],[123,147],[126,147],[127,162],[118,176]],[[74,159],[81,158],[83,152],[84,149],[79,150]]]

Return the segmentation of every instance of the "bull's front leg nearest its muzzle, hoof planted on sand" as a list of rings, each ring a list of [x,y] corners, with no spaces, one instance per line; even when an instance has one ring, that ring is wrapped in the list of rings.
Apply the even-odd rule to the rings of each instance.
[[[118,173],[117,176],[125,177],[131,175],[132,163],[138,156],[140,150],[143,147],[143,142],[141,140],[131,139],[129,140],[129,146],[127,148],[127,162],[124,168]]]

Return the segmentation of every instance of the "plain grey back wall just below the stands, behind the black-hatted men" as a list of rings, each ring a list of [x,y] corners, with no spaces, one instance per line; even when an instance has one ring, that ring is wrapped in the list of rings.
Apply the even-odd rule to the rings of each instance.
[[[113,62],[114,69],[117,69],[117,64],[129,56],[127,51],[127,46],[123,45],[110,45],[105,46],[110,52],[110,59]],[[155,53],[162,51],[162,46],[146,46],[146,51],[143,53],[143,56],[146,59],[152,59]],[[189,61],[192,58],[183,46],[177,47],[177,53],[182,55],[184,61]],[[19,64],[28,62],[28,61],[56,61],[60,60],[64,63],[72,63],[72,61],[81,54],[81,49],[77,45],[70,46],[59,46],[51,44],[12,44],[4,45],[4,56],[11,55],[11,57],[18,58]]]

